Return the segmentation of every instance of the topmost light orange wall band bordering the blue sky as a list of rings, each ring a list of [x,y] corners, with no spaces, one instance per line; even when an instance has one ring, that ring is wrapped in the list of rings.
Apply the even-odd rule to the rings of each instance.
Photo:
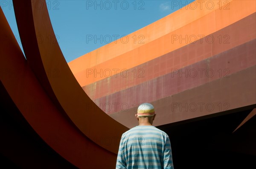
[[[69,66],[74,74],[84,70],[84,68],[91,68],[112,59],[113,57],[124,54],[125,52],[131,51],[134,48],[151,42],[154,39],[163,37],[165,34],[175,31],[176,29],[201,18],[218,8],[228,10],[228,6],[230,6],[231,1],[232,0],[210,1],[210,5],[212,5],[212,3],[214,4],[212,7],[208,8],[206,6],[207,1],[202,3],[196,0],[192,2],[189,7],[183,7],[160,20],[157,20],[156,22],[135,31],[134,33],[127,35],[129,38],[127,43],[117,40],[116,42],[112,42],[69,62]],[[173,7],[181,5],[180,3],[175,3],[177,2],[173,2]],[[244,3],[246,2],[244,1]],[[143,37],[139,37],[140,35]],[[137,39],[135,39],[134,36],[136,36]],[[135,43],[134,40],[136,40]],[[97,56],[97,59],[95,59],[95,56]]]

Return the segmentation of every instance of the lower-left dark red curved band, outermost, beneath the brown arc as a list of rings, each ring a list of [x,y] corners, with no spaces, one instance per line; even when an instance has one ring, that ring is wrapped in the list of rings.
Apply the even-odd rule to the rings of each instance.
[[[24,1],[22,3],[28,5]],[[27,16],[29,17],[29,14]],[[5,88],[3,90],[8,92],[26,121],[52,149],[75,166],[89,169],[114,168],[116,155],[97,145],[109,144],[109,142],[106,143],[102,136],[97,140],[102,143],[94,143],[87,138],[66,115],[58,110],[45,93],[38,81],[40,77],[35,76],[30,68],[32,62],[28,63],[23,56],[2,9],[0,9],[0,28],[0,37],[6,38],[1,41],[0,68],[3,72],[0,80]],[[87,113],[86,110],[83,112]],[[88,115],[87,118],[90,116]],[[111,142],[111,144],[118,147],[118,143]],[[100,163],[99,159],[101,159]]]

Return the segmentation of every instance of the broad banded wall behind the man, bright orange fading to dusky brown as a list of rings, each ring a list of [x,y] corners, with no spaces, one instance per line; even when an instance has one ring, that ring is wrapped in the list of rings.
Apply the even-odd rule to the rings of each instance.
[[[183,7],[130,34],[131,37],[145,34],[145,44],[112,42],[73,60],[69,63],[70,69],[88,96],[105,113],[129,128],[137,124],[133,116],[142,102],[157,106],[156,125],[253,105],[256,103],[253,74],[247,78],[236,74],[248,69],[255,74],[256,3],[250,0],[210,2],[215,3],[215,8]],[[194,3],[200,6],[201,1]],[[191,70],[197,70],[198,76],[190,76]],[[204,75],[200,76],[202,70]],[[206,70],[213,71],[214,76],[207,76]],[[216,89],[209,89],[207,84],[217,81],[220,83]],[[231,81],[235,94],[221,90],[229,88]],[[235,85],[238,82],[244,85],[243,89]],[[184,93],[199,90],[201,86],[205,88],[194,93],[194,99],[186,99],[189,96]],[[244,93],[250,99],[236,97]],[[172,100],[175,96],[181,99]],[[191,113],[178,107],[171,111],[176,104],[190,105],[193,100],[208,101],[215,109],[207,111],[204,107],[199,113]],[[217,109],[219,104],[222,106]]]

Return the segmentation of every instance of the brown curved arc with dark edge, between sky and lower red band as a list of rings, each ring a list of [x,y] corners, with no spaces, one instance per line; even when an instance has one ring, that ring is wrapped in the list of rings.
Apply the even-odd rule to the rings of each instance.
[[[44,4],[43,8],[36,8],[38,2]],[[99,140],[110,137],[114,142],[127,128],[100,110],[76,81],[56,43],[45,0],[14,0],[13,5],[26,59],[53,103],[84,135],[117,153],[118,145]],[[38,43],[38,36],[50,36],[52,41]]]

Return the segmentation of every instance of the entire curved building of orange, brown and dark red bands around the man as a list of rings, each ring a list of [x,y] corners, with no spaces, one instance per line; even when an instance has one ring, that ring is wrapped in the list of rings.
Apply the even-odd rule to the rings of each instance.
[[[113,169],[122,133],[150,102],[175,168],[251,166],[256,2],[208,2],[212,8],[195,1],[201,8],[183,7],[127,36],[143,35],[143,43],[112,42],[68,64],[45,0],[13,0],[26,59],[0,10],[1,163]]]

